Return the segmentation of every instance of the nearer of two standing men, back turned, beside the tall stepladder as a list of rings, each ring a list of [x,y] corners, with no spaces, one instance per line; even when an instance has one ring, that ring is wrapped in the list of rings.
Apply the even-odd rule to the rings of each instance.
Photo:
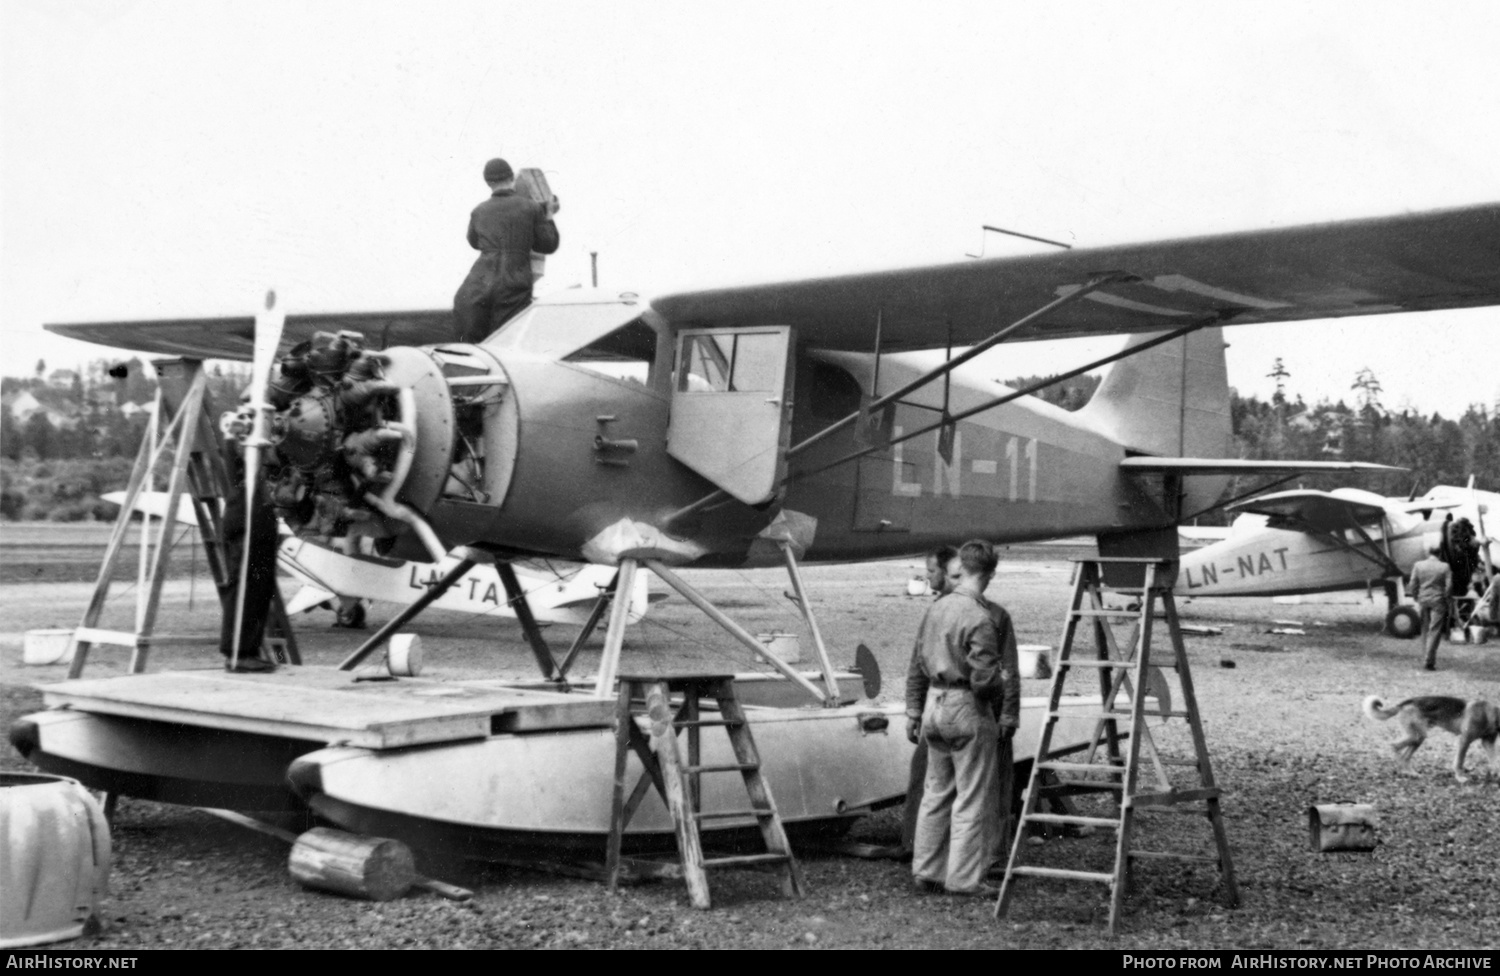
[[[906,738],[927,741],[927,781],[912,852],[920,891],[994,895],[999,636],[984,589],[999,562],[986,541],[958,550],[956,589],[922,616],[906,673]]]

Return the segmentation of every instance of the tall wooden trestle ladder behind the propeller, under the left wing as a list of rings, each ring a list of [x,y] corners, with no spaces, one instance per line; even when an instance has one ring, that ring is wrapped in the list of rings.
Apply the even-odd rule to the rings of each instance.
[[[228,565],[222,538],[220,499],[230,492],[228,472],[218,450],[218,435],[213,418],[208,417],[207,376],[200,360],[164,360],[154,363],[158,370],[156,409],[147,426],[141,450],[130,469],[124,490],[124,502],[116,519],[114,531],[105,547],[99,579],[93,597],[84,610],[82,624],[74,631],[74,661],[69,678],[82,675],[93,645],[130,648],[130,673],[146,670],[147,655],[153,646],[202,645],[204,637],[168,636],[156,633],[156,613],[160,607],[162,585],[166,582],[171,550],[176,543],[177,513],[180,499],[188,498],[198,526],[202,529],[204,553],[208,573],[216,588],[225,586],[236,571]],[[105,630],[99,627],[110,585],[124,549],[135,505],[144,492],[154,487],[156,468],[171,459],[166,475],[166,508],[164,517],[147,517],[141,523],[140,564],[136,570],[136,604],[132,630]],[[156,528],[156,531],[153,531]],[[214,636],[214,640],[218,636]],[[266,625],[266,643],[282,661],[298,664],[297,642],[292,637],[282,604],[280,592],[272,600],[272,615]]]

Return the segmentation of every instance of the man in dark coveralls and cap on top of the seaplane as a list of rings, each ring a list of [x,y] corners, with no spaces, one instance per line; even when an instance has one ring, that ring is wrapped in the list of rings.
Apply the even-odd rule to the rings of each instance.
[[[558,249],[554,204],[516,193],[516,174],[504,159],[484,163],[490,196],[470,214],[468,241],[478,259],[453,295],[458,342],[480,342],[531,304],[531,252]]]

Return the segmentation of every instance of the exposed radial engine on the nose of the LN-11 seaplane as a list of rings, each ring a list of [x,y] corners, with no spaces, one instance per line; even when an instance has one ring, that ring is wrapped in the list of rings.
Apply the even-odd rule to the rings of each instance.
[[[429,561],[478,537],[514,460],[514,406],[494,355],[376,352],[356,333],[320,333],[278,366],[266,477],[294,532],[372,537],[381,552]]]

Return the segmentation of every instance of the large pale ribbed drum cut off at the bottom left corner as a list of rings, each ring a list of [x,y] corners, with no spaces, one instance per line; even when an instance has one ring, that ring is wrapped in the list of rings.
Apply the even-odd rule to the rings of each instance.
[[[76,780],[0,772],[0,949],[99,931],[110,825]]]

